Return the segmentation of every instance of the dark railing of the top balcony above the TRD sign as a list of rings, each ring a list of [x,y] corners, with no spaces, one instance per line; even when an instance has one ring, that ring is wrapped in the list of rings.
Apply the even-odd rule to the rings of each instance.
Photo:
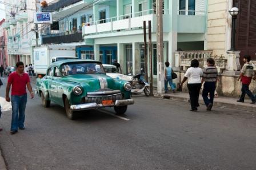
[[[63,7],[70,6],[70,5],[80,2],[80,1],[83,1],[83,0],[60,0],[56,3],[53,3],[52,5],[43,7],[42,12],[59,11],[59,9],[62,9]]]

